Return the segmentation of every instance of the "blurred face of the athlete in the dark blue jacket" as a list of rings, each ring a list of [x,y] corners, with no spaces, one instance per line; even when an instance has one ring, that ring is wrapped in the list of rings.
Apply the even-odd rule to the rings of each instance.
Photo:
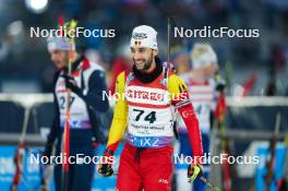
[[[50,59],[55,63],[56,68],[61,70],[69,63],[69,51],[67,50],[48,50]]]

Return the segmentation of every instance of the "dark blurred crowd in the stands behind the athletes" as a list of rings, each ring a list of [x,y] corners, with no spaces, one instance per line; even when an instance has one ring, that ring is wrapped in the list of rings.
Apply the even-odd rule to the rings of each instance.
[[[100,63],[107,84],[131,67],[129,36],[134,26],[158,31],[159,53],[167,59],[167,16],[172,26],[257,28],[257,38],[173,38],[171,61],[181,73],[195,43],[209,43],[228,84],[228,95],[288,95],[288,2],[286,0],[50,0],[41,13],[22,0],[0,0],[0,92],[49,93],[55,71],[45,38],[31,27],[56,28],[57,19],[76,19],[85,28],[113,28],[113,38],[79,38],[79,51]]]

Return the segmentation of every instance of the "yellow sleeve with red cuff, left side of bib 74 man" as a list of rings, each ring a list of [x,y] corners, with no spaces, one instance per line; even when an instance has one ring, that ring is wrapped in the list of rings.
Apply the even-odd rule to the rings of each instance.
[[[111,122],[111,127],[109,130],[109,139],[107,143],[107,150],[115,152],[118,147],[119,142],[121,141],[123,133],[127,128],[128,121],[128,104],[124,99],[124,80],[125,73],[122,72],[117,76],[116,81],[116,97],[118,100],[116,102],[113,109],[113,119]]]

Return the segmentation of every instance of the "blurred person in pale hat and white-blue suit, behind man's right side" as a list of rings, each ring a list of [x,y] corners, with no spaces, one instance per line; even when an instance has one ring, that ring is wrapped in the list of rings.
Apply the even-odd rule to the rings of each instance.
[[[195,108],[195,114],[199,119],[200,130],[203,141],[203,152],[208,156],[209,138],[213,121],[215,120],[216,108],[218,107],[218,91],[224,88],[224,81],[220,79],[218,71],[217,55],[209,44],[196,43],[190,55],[192,61],[192,70],[180,74],[180,77],[188,85],[190,99]],[[179,155],[190,156],[191,151],[189,144],[189,132],[187,131],[184,121],[178,118],[179,134],[180,134],[180,152]],[[193,184],[187,183],[183,180],[185,177],[185,166],[179,165],[176,170],[177,188],[181,191],[204,191],[205,183],[201,180],[195,180]],[[203,164],[203,176],[208,178],[209,165]],[[193,187],[192,187],[193,186]]]

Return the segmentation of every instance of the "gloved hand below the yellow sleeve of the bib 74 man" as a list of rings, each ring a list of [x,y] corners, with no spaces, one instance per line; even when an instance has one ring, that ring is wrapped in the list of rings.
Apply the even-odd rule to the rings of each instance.
[[[112,169],[113,164],[113,152],[106,150],[104,152],[104,157],[98,165],[98,174],[103,175],[104,177],[110,177],[113,175]]]

